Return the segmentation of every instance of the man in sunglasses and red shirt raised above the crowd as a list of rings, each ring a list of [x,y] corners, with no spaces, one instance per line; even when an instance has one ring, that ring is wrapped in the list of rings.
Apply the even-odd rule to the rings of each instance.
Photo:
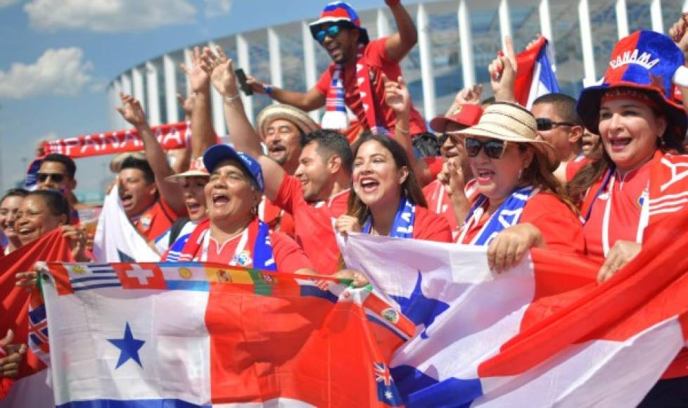
[[[344,121],[345,103],[358,117],[362,129],[386,128],[394,132],[396,116],[386,106],[382,76],[386,75],[394,81],[400,77],[399,62],[416,45],[417,32],[400,0],[386,0],[386,3],[399,31],[374,41],[369,41],[367,30],[361,27],[358,15],[348,4],[336,1],[324,8],[319,20],[310,24],[310,30],[313,38],[327,51],[332,63],[315,87],[307,92],[279,89],[250,76],[248,83],[260,94],[267,94],[276,101],[305,111],[321,108],[327,101],[328,113],[331,106],[336,105]],[[342,80],[333,81],[333,77]],[[323,127],[326,127],[326,121],[323,122]],[[348,124],[344,122],[329,128],[343,130],[346,127]],[[406,130],[409,134],[426,131],[423,118],[413,106],[411,125]]]

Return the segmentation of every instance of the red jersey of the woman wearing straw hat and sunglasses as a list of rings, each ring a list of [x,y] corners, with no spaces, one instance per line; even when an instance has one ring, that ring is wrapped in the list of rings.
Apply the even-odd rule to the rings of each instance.
[[[485,205],[488,205],[487,200]],[[460,243],[471,243],[488,220],[488,217],[480,219]],[[528,199],[518,223],[525,222],[530,222],[540,230],[549,250],[581,254],[585,250],[583,229],[578,215],[553,194],[540,192]]]

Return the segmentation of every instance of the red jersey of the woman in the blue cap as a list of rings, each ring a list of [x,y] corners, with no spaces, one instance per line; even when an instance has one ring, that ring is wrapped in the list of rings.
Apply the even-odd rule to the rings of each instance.
[[[210,234],[210,231],[206,234]],[[218,246],[215,239],[212,237],[209,238],[208,262],[229,264],[234,257],[234,253],[236,253],[239,241],[241,241],[241,234],[230,238],[220,246]],[[293,239],[285,234],[281,234],[280,232],[270,233],[270,243],[272,244],[272,257],[274,258],[276,268],[279,272],[293,274],[299,269],[313,269],[313,265],[308,257],[306,257],[305,253],[303,253],[303,250],[293,241]],[[246,246],[243,248],[243,251],[247,251],[247,260],[253,260],[253,245],[254,243],[249,242],[246,243]],[[253,267],[253,262],[241,266],[250,268]]]

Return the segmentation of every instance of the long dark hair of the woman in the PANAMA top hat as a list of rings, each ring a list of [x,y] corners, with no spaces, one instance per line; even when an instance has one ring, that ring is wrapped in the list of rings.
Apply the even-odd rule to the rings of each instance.
[[[664,117],[665,120],[667,120],[667,127],[664,134],[657,138],[657,148],[664,153],[686,153],[686,149],[683,146],[684,135],[677,134],[675,126],[669,122],[669,118],[666,115],[654,107],[649,106],[649,108],[651,108],[652,113],[656,117]],[[601,136],[599,143],[602,143]],[[609,154],[607,154],[604,146],[601,146],[600,150],[601,157],[596,158],[592,163],[582,167],[582,169],[575,174],[573,180],[566,185],[568,195],[575,200],[580,200],[585,196],[587,189],[590,189],[592,184],[599,180],[607,170],[615,167],[614,162],[609,157]]]

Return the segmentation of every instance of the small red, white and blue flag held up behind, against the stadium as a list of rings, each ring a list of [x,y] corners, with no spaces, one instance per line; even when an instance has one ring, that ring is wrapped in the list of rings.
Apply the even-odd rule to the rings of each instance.
[[[516,55],[518,72],[514,91],[516,101],[522,106],[530,109],[538,96],[559,92],[552,59],[549,42],[544,37],[540,37],[532,47]]]

